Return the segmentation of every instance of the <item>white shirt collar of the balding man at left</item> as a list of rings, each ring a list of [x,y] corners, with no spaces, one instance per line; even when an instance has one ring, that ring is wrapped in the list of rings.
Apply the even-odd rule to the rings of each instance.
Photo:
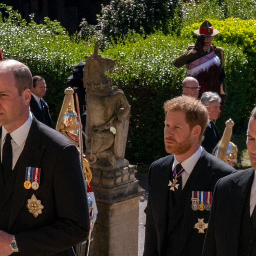
[[[26,140],[26,137],[28,135],[32,120],[33,120],[33,116],[30,112],[30,115],[29,115],[28,119],[26,120],[26,122],[22,126],[17,128],[15,131],[10,133],[11,138],[15,141],[15,143],[18,146],[20,146]],[[8,132],[5,130],[4,126],[2,126],[1,143],[3,143],[3,140],[4,140],[7,133]]]

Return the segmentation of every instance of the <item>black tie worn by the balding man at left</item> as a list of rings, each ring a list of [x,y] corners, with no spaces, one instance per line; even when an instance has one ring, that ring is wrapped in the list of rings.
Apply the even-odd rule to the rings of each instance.
[[[5,137],[2,154],[2,168],[4,173],[4,181],[6,183],[12,171],[12,147],[10,133],[8,133]]]

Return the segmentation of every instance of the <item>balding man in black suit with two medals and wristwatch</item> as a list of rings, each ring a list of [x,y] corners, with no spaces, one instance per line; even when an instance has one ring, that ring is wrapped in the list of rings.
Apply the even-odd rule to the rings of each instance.
[[[75,145],[30,113],[32,75],[0,61],[0,255],[75,256],[89,211]]]

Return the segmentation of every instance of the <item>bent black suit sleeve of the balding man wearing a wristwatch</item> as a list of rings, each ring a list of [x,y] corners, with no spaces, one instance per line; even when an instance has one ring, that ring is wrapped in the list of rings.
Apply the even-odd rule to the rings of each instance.
[[[54,255],[88,237],[89,210],[78,151],[70,144],[57,153],[53,163],[53,188],[49,188],[53,190],[49,195],[55,201],[55,221],[15,233],[21,256]]]

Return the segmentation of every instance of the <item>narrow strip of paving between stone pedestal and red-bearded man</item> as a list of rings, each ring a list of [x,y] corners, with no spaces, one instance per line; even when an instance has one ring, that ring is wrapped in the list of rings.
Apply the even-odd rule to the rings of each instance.
[[[139,241],[138,241],[138,256],[143,255],[144,248],[144,237],[145,237],[145,222],[146,222],[146,214],[144,209],[147,206],[147,196],[148,196],[148,188],[147,188],[147,174],[138,174],[136,175],[136,179],[139,180],[139,185],[145,189],[145,193],[140,196],[139,199]]]

